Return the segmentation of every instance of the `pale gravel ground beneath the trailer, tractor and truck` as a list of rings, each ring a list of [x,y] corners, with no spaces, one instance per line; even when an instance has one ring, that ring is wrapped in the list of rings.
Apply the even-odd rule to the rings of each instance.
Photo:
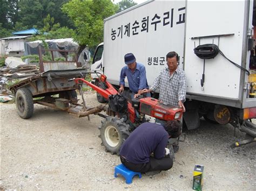
[[[89,105],[98,104],[95,93],[85,96]],[[100,145],[99,116],[88,121],[35,105],[33,116],[22,119],[15,104],[0,108],[2,189],[192,190],[195,164],[205,166],[205,190],[256,187],[256,143],[231,150],[229,145],[244,137],[237,131],[234,138],[231,125],[202,119],[200,128],[186,131],[172,169],[126,185],[122,176],[113,176],[119,157]]]

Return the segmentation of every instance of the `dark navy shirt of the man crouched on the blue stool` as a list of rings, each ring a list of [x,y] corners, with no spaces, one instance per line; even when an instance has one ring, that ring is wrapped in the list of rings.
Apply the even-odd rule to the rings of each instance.
[[[168,138],[162,125],[143,123],[125,140],[120,155],[134,164],[149,162],[151,153],[154,153],[154,158],[161,159],[165,155]]]

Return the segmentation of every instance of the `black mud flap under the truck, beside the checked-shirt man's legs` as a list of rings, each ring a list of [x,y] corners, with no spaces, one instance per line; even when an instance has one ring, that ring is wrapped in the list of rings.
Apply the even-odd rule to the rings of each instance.
[[[198,110],[188,110],[183,113],[183,119],[186,123],[187,129],[196,129],[200,126],[200,119],[198,115]]]

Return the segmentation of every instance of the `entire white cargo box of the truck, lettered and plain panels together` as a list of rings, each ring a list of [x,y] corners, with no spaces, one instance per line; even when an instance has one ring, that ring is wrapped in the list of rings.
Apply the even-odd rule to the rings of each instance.
[[[256,107],[256,98],[246,98],[248,75],[220,54],[205,61],[202,88],[204,60],[193,51],[198,45],[216,44],[228,59],[248,69],[247,32],[252,30],[252,6],[245,1],[152,1],[109,17],[104,23],[104,74],[118,85],[124,55],[132,52],[137,62],[145,65],[151,85],[166,67],[165,55],[176,51],[179,66],[186,73],[188,98]]]

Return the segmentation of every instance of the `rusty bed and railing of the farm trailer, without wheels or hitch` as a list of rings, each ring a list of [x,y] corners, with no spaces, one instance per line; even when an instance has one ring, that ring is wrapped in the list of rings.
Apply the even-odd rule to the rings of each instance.
[[[78,68],[77,56],[75,61],[68,61],[67,54],[75,51],[55,50],[49,49],[53,61],[47,61],[50,64],[54,63],[76,63],[77,69],[57,69],[45,71],[44,61],[42,55],[42,48],[39,46],[39,73],[36,76],[29,77],[28,79],[19,81],[18,83],[10,86],[12,93],[16,93],[19,88],[28,88],[33,97],[40,97],[44,95],[54,95],[61,91],[79,89],[78,85],[74,82],[68,82],[71,77],[80,77],[80,73],[85,72],[84,69]],[[55,61],[53,51],[64,52],[65,61]]]

